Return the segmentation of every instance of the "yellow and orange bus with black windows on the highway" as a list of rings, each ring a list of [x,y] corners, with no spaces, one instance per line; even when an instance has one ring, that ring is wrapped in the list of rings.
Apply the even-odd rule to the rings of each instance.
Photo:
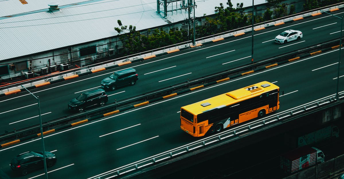
[[[279,87],[263,81],[181,107],[180,128],[200,137],[278,109]]]

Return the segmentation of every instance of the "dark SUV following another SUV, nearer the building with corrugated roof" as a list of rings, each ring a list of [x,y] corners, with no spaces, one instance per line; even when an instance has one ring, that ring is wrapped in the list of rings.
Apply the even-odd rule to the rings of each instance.
[[[105,89],[114,91],[119,86],[135,85],[139,79],[135,69],[128,68],[115,73],[112,73],[110,77],[107,77],[101,81],[101,86]]]

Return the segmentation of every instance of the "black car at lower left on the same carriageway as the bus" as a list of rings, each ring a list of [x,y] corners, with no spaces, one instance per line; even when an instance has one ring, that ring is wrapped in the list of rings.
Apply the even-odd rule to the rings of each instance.
[[[28,172],[44,168],[43,152],[25,152],[14,157],[11,161],[11,169],[26,175]],[[56,156],[51,152],[45,152],[46,166],[51,167],[56,163]]]

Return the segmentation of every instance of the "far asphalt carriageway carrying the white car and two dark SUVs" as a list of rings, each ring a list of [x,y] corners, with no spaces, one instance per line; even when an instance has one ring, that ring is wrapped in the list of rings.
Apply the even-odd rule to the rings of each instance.
[[[342,11],[342,10],[341,10]],[[341,15],[338,11],[335,14]],[[287,23],[277,27],[267,28],[255,32],[254,59],[261,60],[278,54],[307,47],[320,41],[338,36],[336,18],[330,15],[319,15],[308,19]],[[276,44],[273,38],[286,29],[298,29],[304,34],[299,41],[287,45]],[[162,87],[185,82],[188,79],[205,76],[215,72],[234,68],[250,63],[251,36],[250,34],[231,38],[203,47],[188,49],[172,53],[156,59],[130,64],[128,66],[90,74],[61,83],[48,85],[31,90],[41,99],[42,120],[73,114],[67,109],[67,103],[80,92],[100,86],[101,79],[109,76],[113,71],[134,67],[139,74],[139,81],[135,86],[127,86],[108,92],[109,103],[157,90]],[[62,86],[63,85],[63,86]],[[77,93],[79,92],[79,93]],[[38,123],[36,100],[27,92],[9,95],[0,99],[1,131],[13,131]],[[18,98],[16,98],[18,97]],[[31,105],[31,106],[30,106]]]

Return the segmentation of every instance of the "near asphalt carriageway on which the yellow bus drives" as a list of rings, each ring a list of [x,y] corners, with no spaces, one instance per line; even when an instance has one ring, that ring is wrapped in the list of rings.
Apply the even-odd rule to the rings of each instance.
[[[337,66],[330,64],[336,63],[337,58],[333,57],[337,55],[338,50],[324,53],[46,135],[46,151],[56,150],[58,157],[57,164],[49,171],[65,167],[49,173],[49,178],[93,177],[198,140],[180,130],[180,107],[257,81],[276,82],[284,91],[278,112],[333,94]],[[341,83],[340,91],[343,90]],[[8,164],[15,155],[40,148],[40,139],[6,147],[0,150],[0,167],[14,178],[38,176],[44,171],[32,172],[27,177],[15,176]]]

